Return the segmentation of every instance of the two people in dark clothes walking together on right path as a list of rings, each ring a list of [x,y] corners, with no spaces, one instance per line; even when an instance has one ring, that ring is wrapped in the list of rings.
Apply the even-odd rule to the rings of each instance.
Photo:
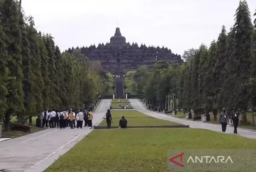
[[[237,111],[236,107],[234,107],[233,110],[231,111],[231,119],[233,121],[235,134],[237,134],[237,126],[238,126],[238,122],[239,122],[239,116],[240,116],[240,113]],[[226,132],[228,121],[229,121],[229,116],[226,112],[226,108],[222,108],[222,112],[220,113],[220,123],[221,123],[223,132]]]

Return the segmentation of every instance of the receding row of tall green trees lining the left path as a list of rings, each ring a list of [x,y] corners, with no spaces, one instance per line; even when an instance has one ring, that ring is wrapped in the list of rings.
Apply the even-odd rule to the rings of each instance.
[[[0,121],[47,109],[81,108],[105,91],[101,74],[80,52],[61,53],[50,34],[35,29],[16,0],[0,1]]]

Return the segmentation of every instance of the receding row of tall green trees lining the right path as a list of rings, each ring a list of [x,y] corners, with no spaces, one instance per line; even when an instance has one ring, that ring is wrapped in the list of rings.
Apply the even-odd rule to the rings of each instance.
[[[255,28],[247,2],[240,1],[229,33],[223,26],[209,48],[202,44],[185,51],[187,63],[181,66],[159,61],[152,72],[139,68],[134,74],[135,88],[154,104],[161,102],[161,109],[165,96],[176,94],[180,108],[193,109],[195,115],[212,111],[215,120],[222,107],[229,112],[237,107],[242,123],[247,124],[248,110],[256,110]]]

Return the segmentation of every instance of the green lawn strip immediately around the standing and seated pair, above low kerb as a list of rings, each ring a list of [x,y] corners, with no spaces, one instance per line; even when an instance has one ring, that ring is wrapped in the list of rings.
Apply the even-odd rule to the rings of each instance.
[[[111,126],[119,126],[120,119],[113,119]],[[127,119],[127,126],[166,126],[166,125],[182,125],[176,122],[166,121],[157,118],[130,118]],[[100,125],[107,126],[106,120],[102,121]]]

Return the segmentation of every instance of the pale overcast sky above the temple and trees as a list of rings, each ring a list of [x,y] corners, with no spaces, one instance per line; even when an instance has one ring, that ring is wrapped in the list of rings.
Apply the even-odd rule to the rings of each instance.
[[[256,0],[247,0],[251,14]],[[110,41],[120,27],[126,41],[165,46],[183,54],[209,46],[221,26],[234,24],[239,0],[22,0],[37,30],[50,33],[61,50]],[[252,16],[253,17],[253,16]]]

